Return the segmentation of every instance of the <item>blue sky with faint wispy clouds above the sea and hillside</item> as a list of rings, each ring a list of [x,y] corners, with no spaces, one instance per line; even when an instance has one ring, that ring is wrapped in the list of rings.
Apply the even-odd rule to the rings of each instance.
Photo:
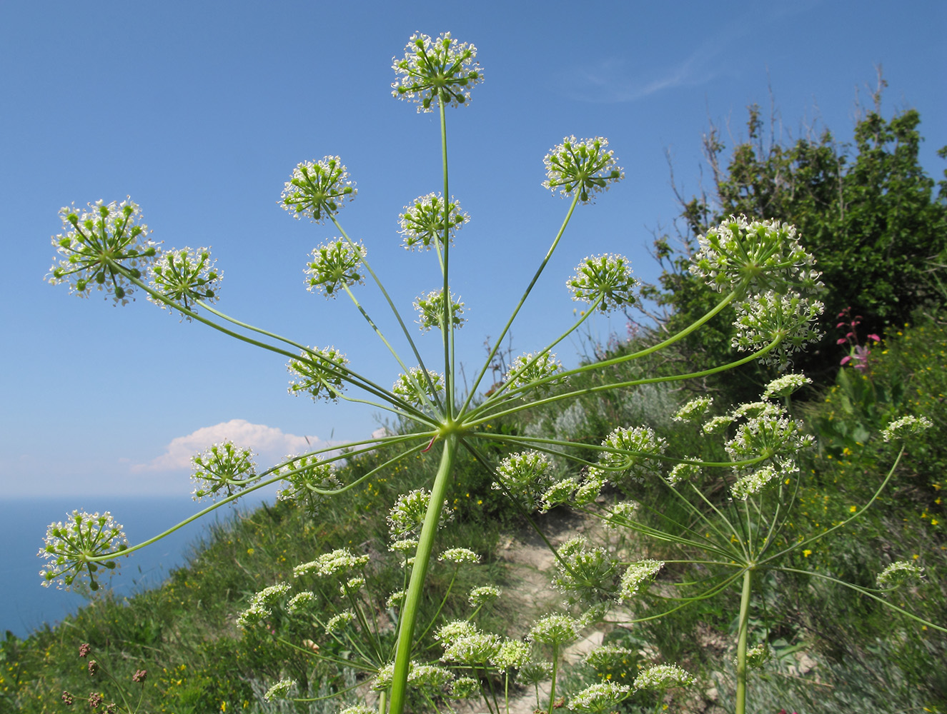
[[[280,357],[143,299],[80,300],[43,277],[61,206],[130,195],[165,248],[212,247],[224,312],[336,345],[390,384],[397,365],[352,305],[303,287],[332,227],[294,221],[277,200],[295,164],[341,156],[359,194],[340,218],[397,304],[410,313],[437,287],[433,254],[405,252],[397,235],[402,206],[440,186],[436,114],[390,96],[392,57],[415,30],[475,44],[484,68],[470,106],[448,116],[452,193],[471,215],[452,255],[472,374],[563,219],[566,201],[540,185],[563,136],[607,137],[627,175],[580,207],[513,327],[517,353],[572,321],[564,282],[585,255],[625,253],[653,279],[651,232],[676,213],[666,156],[683,193],[698,191],[708,122],[732,146],[746,105],[768,111],[770,90],[782,137],[829,127],[846,141],[882,63],[884,113],[920,110],[922,163],[938,178],[945,28],[942,2],[4,3],[2,494],[75,495],[78,508],[83,495],[187,498],[188,457],[224,436],[265,466],[307,438],[379,427],[372,409],[289,396]],[[359,295],[384,315],[371,286]],[[590,329],[604,340],[625,323]],[[436,353],[435,335],[420,341]],[[559,355],[575,363],[581,349]]]

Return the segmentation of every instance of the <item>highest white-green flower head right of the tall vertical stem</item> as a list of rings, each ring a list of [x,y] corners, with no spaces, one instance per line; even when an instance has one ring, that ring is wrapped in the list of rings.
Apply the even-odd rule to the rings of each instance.
[[[578,191],[582,203],[590,202],[592,194],[607,191],[612,182],[625,178],[615,152],[606,147],[608,139],[601,136],[581,140],[566,136],[562,144],[545,155],[543,185],[553,193],[558,189],[563,197]]]

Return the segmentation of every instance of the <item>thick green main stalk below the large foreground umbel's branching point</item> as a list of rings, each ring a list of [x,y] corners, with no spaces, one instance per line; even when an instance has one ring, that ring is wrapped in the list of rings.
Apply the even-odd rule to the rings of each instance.
[[[395,670],[391,683],[390,714],[402,714],[404,709],[404,694],[411,665],[411,648],[414,644],[415,622],[418,619],[418,604],[424,588],[424,577],[431,560],[431,552],[434,549],[434,540],[438,534],[440,512],[444,506],[447,483],[454,469],[457,446],[456,434],[448,434],[444,438],[444,451],[440,455],[438,475],[434,478],[434,486],[431,488],[431,502],[428,503],[427,514],[424,515],[424,525],[421,527],[415,562],[411,568],[411,582],[408,583],[402,621],[398,629],[398,648],[395,651]]]

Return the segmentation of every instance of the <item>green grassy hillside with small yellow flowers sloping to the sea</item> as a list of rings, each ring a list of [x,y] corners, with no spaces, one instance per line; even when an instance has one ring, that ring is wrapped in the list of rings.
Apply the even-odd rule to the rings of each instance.
[[[613,345],[610,354],[627,349]],[[928,319],[905,326],[874,347],[866,370],[844,368],[830,392],[793,407],[817,438],[816,447],[800,464],[793,514],[793,527],[800,534],[831,529],[848,517],[853,504],[871,497],[893,460],[893,447],[878,437],[891,418],[913,413],[934,421],[929,432],[933,436],[912,448],[892,486],[867,514],[820,542],[824,547],[799,551],[794,557],[799,569],[815,569],[865,586],[871,586],[875,574],[891,561],[911,559],[925,568],[924,581],[891,598],[920,617],[941,623],[947,612],[947,514],[941,496],[947,482],[947,443],[942,438],[947,429],[945,357],[947,331],[941,322]],[[582,378],[625,380],[661,369],[657,363],[632,363],[616,366],[614,374]],[[571,385],[577,386],[581,387]],[[740,385],[740,391],[743,388]],[[729,407],[725,392],[715,394],[721,410]],[[598,444],[616,425],[645,424],[663,434],[675,453],[697,454],[713,447],[692,427],[670,421],[670,414],[692,395],[687,387],[668,385],[604,396],[590,392],[568,409],[536,409],[518,421],[499,421],[490,428],[568,441],[581,454],[583,444]],[[723,453],[707,456],[725,459]],[[384,460],[384,453],[377,452],[353,458],[339,476],[343,481],[355,479]],[[24,640],[8,634],[0,648],[0,712],[63,711],[64,690],[73,694],[80,708],[88,706],[81,700],[94,691],[102,692],[106,703],[115,701],[119,710],[141,712],[337,711],[338,705],[331,701],[294,708],[265,703],[261,695],[286,676],[310,696],[351,687],[363,673],[346,665],[350,653],[345,648],[333,652],[323,648],[321,658],[315,657],[307,652],[306,634],[293,630],[291,623],[277,618],[268,624],[269,633],[244,633],[236,624],[238,614],[254,593],[293,581],[295,565],[331,549],[348,548],[369,556],[370,592],[386,596],[397,590],[403,569],[398,554],[385,547],[385,516],[397,496],[429,483],[436,468],[436,458],[416,454],[334,498],[315,514],[285,503],[235,514],[196,544],[188,566],[172,573],[160,588],[130,599],[106,594],[56,628]],[[442,619],[467,617],[467,592],[475,585],[504,580],[503,565],[494,557],[500,538],[527,527],[525,515],[491,489],[489,474],[473,458],[467,457],[457,473],[449,498],[454,517],[441,531],[440,549],[472,549],[481,556],[481,565],[437,564],[420,621],[438,612]],[[707,481],[708,498],[725,496],[710,484]],[[606,491],[601,497],[613,495]],[[674,515],[676,507],[661,489],[644,484],[637,487],[634,498],[643,506],[637,517],[645,524]],[[675,547],[645,541],[622,547],[669,561],[675,556]],[[699,581],[700,567],[690,567],[691,579]],[[675,575],[686,574],[680,570]],[[844,588],[802,575],[770,577],[773,582],[766,583],[766,591],[772,595],[751,617],[766,628],[775,656],[755,676],[749,710],[947,711],[945,636]],[[660,587],[654,589],[643,608],[657,607],[665,597]],[[449,590],[452,597],[445,600]],[[383,603],[380,596],[375,614],[390,618],[393,611]],[[739,595],[695,603],[631,629],[611,628],[606,639],[634,650],[634,663],[680,662],[695,672],[700,687],[689,695],[688,704],[677,706],[693,711],[712,710],[715,705],[726,709],[732,697],[736,604]],[[500,598],[477,613],[477,622],[488,632],[522,632],[517,615],[515,601]],[[393,641],[393,623],[389,624],[378,628],[383,648]],[[422,639],[421,649],[433,647],[433,632],[432,628]],[[85,657],[80,656],[83,643],[91,646]],[[94,676],[89,673],[90,660],[98,663]],[[634,663],[624,666],[634,669]],[[147,677],[135,683],[138,670],[147,670]],[[620,677],[616,671],[585,665],[567,672],[564,681],[578,687]],[[623,706],[637,712],[654,705],[660,705],[659,699],[637,699]]]

